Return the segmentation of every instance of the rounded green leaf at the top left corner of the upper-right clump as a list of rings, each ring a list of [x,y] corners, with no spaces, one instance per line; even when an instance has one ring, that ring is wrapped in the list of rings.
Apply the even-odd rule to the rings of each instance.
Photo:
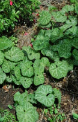
[[[44,10],[40,13],[39,23],[41,25],[47,25],[51,20],[51,14]]]

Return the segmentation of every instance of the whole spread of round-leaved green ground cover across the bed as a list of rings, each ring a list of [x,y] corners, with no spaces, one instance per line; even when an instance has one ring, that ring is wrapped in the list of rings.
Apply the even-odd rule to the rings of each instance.
[[[36,122],[39,119],[38,104],[50,112],[48,121],[62,122],[65,119],[64,114],[58,114],[61,92],[45,84],[44,73],[47,71],[58,80],[78,66],[78,2],[71,2],[73,4],[64,6],[60,11],[49,6],[48,11],[39,13],[40,31],[32,39],[33,47],[23,46],[20,49],[14,44],[14,39],[0,38],[0,84],[15,84],[25,91],[14,95],[19,122]],[[10,5],[13,5],[12,1]],[[28,93],[31,86],[35,90]],[[73,117],[78,119],[75,113]]]

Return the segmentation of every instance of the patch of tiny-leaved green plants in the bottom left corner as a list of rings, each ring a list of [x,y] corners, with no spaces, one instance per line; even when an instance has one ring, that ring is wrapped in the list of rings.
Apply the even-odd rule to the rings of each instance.
[[[0,122],[17,122],[15,116],[8,110],[0,108]]]

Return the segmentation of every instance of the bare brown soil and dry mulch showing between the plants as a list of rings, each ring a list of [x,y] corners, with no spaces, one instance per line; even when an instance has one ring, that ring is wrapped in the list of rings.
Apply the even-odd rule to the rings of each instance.
[[[47,9],[47,6],[49,4],[55,5],[59,9],[61,9],[64,5],[70,3],[68,0],[41,0],[40,9],[36,10],[36,12],[33,13],[36,21],[36,13],[41,10]],[[16,26],[14,29],[14,35],[18,37],[17,46],[19,48],[22,48],[22,46],[28,46],[31,43],[31,38],[38,33],[38,30],[39,29],[37,27],[37,23],[33,23],[32,26],[29,27],[26,24],[23,26]],[[74,70],[68,73],[67,77],[57,82],[47,73],[45,73],[44,76],[45,84],[50,84],[53,88],[58,88],[62,93],[60,111],[64,112],[66,115],[66,119],[63,122],[78,122],[78,120],[75,120],[72,117],[72,112],[76,112],[78,114],[78,67],[75,67]],[[17,91],[20,91],[22,93],[24,90],[21,87],[18,88],[17,86],[13,86],[11,84],[4,84],[3,86],[0,86],[0,108],[8,109],[14,115],[16,113],[13,96]],[[29,91],[32,91],[32,89],[29,89]],[[8,105],[12,105],[13,109],[9,109]],[[37,111],[40,115],[37,122],[48,122],[42,109],[38,108]]]

